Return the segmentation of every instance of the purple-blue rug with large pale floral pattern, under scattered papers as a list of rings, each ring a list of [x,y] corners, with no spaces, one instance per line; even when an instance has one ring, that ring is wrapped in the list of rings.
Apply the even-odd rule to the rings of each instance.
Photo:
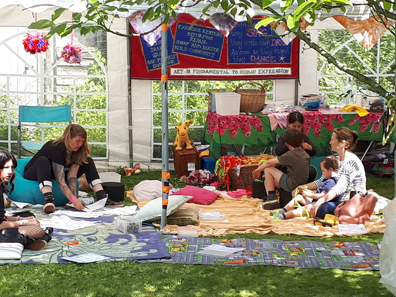
[[[34,213],[39,219],[43,215],[36,210],[34,210]],[[123,234],[114,229],[114,216],[75,220],[95,221],[100,224],[75,231],[55,229],[47,248],[40,251],[25,249],[21,259],[0,260],[0,264],[68,263],[69,261],[62,259],[62,257],[85,253],[96,253],[110,257],[109,260],[142,260],[170,256],[160,235],[151,226],[143,225],[142,233]],[[78,244],[66,244],[72,241],[76,241]]]

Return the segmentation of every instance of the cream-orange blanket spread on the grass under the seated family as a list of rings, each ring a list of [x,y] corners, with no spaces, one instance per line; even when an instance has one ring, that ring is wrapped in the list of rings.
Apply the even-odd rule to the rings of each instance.
[[[127,197],[142,208],[149,199],[136,200],[133,191],[127,191]],[[225,236],[235,233],[256,234],[296,234],[301,236],[331,237],[338,234],[338,226],[329,228],[313,225],[313,219],[293,218],[275,222],[270,218],[270,211],[263,210],[258,202],[261,199],[243,196],[239,199],[219,196],[209,205],[186,203],[184,206],[194,206],[200,212],[220,211],[225,220],[204,220],[199,218],[198,225],[186,226],[198,231],[200,236]],[[384,233],[385,221],[372,216],[371,223],[365,225],[369,234]],[[178,226],[166,225],[163,231],[177,234]],[[345,236],[345,234],[343,234]]]

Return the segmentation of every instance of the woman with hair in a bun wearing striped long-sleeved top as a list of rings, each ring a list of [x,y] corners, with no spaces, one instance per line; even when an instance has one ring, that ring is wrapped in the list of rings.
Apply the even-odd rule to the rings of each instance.
[[[333,131],[330,146],[337,152],[340,158],[340,168],[337,172],[338,182],[324,197],[317,200],[312,206],[311,217],[323,219],[326,214],[333,214],[337,205],[340,204],[347,194],[354,190],[361,195],[367,193],[366,173],[360,159],[352,152],[357,143],[357,133],[346,127],[340,127]],[[324,180],[324,176],[303,187],[316,190]],[[341,199],[340,199],[341,198]]]

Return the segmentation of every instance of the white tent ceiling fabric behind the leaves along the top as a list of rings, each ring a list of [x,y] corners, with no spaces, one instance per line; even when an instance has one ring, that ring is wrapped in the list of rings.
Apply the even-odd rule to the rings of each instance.
[[[365,4],[367,3],[366,0],[352,0],[354,4]],[[271,6],[280,12],[279,8],[279,3],[280,0],[275,0]],[[112,5],[117,5],[117,1],[114,1],[111,3]],[[194,4],[193,0],[188,0],[186,2],[186,5],[192,5]],[[207,2],[204,1],[202,3],[199,3],[199,5],[195,5],[193,7],[188,7],[184,9],[180,9],[177,12],[180,13],[188,13],[193,15],[196,18],[200,18],[202,16],[202,9],[204,6],[206,6]],[[1,0],[0,1],[0,9],[8,6],[8,5],[21,5],[24,8],[29,9],[32,12],[44,12],[49,8],[54,8],[54,7],[63,7],[63,8],[68,8],[72,12],[83,12],[86,9],[87,1],[86,0]],[[40,6],[44,5],[44,6]],[[294,4],[291,6],[292,11],[297,8],[298,4],[297,1],[294,2]],[[120,12],[119,15],[121,17],[128,17],[135,11],[139,10],[146,10],[148,9],[148,5],[133,5],[130,9],[130,12]],[[218,8],[211,7],[208,10],[208,14],[212,15],[216,12],[224,12],[224,10],[221,8],[219,5]],[[265,12],[263,11],[260,7],[258,6],[253,6],[251,9],[247,11],[247,13],[250,16],[254,15],[271,15],[270,12]],[[317,19],[323,20],[327,17],[331,17],[334,15],[344,15],[348,16],[354,20],[364,20],[369,18],[370,16],[370,8],[366,5],[358,5],[358,6],[346,6],[346,11],[343,12],[341,9],[332,9],[330,13],[328,13],[325,9],[321,12],[317,12]],[[204,17],[205,19],[208,17]],[[239,18],[236,19],[237,21],[245,21],[246,20],[246,15],[239,16]]]

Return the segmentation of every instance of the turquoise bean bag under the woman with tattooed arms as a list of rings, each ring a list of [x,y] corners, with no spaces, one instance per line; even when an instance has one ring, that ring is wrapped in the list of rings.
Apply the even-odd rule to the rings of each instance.
[[[8,194],[8,198],[17,202],[27,202],[32,204],[44,204],[44,197],[39,188],[39,182],[30,181],[23,178],[23,171],[31,158],[18,159],[18,167],[15,169],[14,191]],[[77,191],[79,183],[77,179]],[[52,193],[55,197],[56,206],[64,206],[69,200],[63,195],[58,184],[52,180]]]

